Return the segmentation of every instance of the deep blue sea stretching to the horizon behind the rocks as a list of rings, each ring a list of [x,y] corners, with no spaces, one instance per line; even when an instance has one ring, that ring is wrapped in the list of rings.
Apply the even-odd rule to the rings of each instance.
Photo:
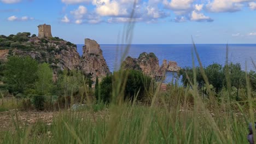
[[[138,58],[142,52],[153,52],[159,59],[159,64],[166,59],[176,61],[179,67],[193,67],[193,56],[195,65],[198,66],[193,44],[132,44],[132,45],[100,45],[103,56],[106,59],[110,71],[119,69],[122,58],[131,56]],[[78,44],[77,50],[83,54],[83,45]],[[224,65],[226,53],[228,62],[240,63],[243,70],[256,70],[252,60],[256,63],[256,44],[196,44],[200,61],[204,67],[213,63]],[[228,52],[226,47],[228,47]],[[176,76],[174,73],[167,73],[164,82],[170,82]]]

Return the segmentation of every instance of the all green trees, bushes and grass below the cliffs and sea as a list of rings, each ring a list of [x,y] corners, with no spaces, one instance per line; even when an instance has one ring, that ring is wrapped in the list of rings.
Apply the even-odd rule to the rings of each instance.
[[[31,125],[10,111],[15,130],[0,130],[1,143],[247,143],[255,120],[255,72],[239,64],[184,68],[184,86],[170,83],[166,91],[135,70],[107,75],[94,90],[89,75],[63,70],[53,81],[49,64],[29,57],[9,57],[0,69],[0,111],[67,109]],[[11,94],[22,103],[8,102]]]

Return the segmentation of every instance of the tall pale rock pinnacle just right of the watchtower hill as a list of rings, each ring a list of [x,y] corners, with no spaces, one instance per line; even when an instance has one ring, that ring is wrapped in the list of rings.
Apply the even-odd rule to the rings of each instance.
[[[100,45],[95,40],[85,39],[80,67],[85,74],[91,75],[93,81],[96,81],[96,77],[101,79],[110,74]]]

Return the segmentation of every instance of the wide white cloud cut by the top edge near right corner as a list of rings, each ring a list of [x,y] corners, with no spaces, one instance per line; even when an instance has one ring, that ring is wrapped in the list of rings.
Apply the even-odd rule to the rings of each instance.
[[[208,2],[206,8],[213,13],[223,12],[236,12],[240,11],[245,6],[245,2],[251,2],[252,0],[213,0]]]

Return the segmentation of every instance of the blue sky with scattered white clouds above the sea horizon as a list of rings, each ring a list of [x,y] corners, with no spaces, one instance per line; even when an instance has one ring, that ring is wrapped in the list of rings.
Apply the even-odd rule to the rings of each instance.
[[[256,43],[256,0],[0,0],[0,34],[46,23],[74,44],[121,44],[132,11],[132,44]]]

